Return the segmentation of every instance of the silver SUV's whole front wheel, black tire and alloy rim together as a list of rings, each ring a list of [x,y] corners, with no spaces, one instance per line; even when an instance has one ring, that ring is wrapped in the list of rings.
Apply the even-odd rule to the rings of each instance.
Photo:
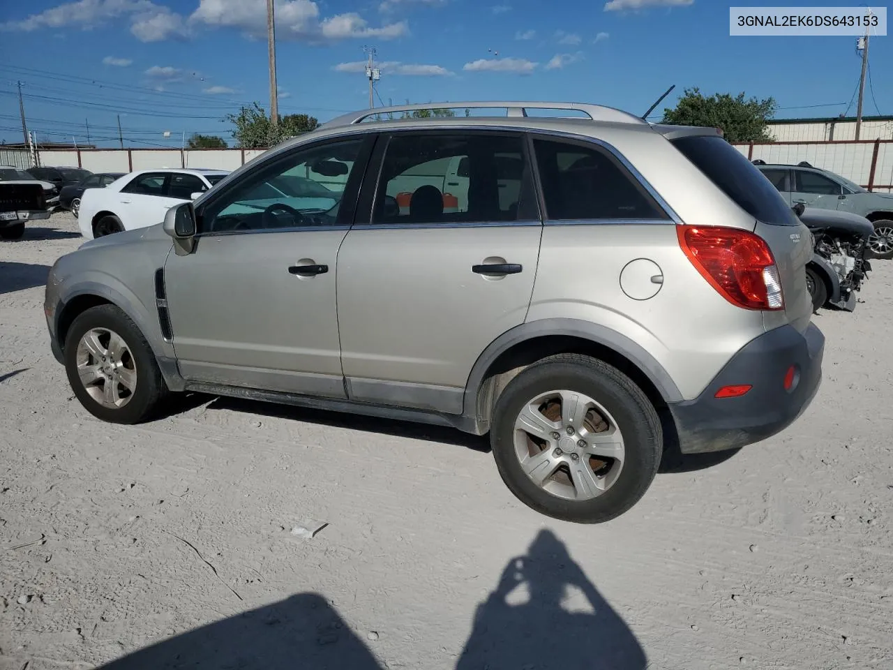
[[[92,347],[86,341],[88,334],[96,336],[90,338]],[[123,348],[113,346],[114,336],[121,339]],[[74,395],[102,421],[144,422],[167,395],[152,348],[136,323],[116,306],[91,307],[75,318],[65,338],[64,359]],[[81,371],[93,369],[92,375],[84,375],[90,383],[81,381],[79,364]],[[116,376],[112,368],[118,371]]]

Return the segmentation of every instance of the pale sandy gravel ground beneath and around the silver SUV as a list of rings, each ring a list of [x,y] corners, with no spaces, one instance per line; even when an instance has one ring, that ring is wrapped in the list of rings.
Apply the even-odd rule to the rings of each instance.
[[[4,670],[893,667],[893,262],[814,317],[794,427],[589,527],[454,431],[204,397],[96,421],[42,313],[80,240],[42,223],[0,244]]]

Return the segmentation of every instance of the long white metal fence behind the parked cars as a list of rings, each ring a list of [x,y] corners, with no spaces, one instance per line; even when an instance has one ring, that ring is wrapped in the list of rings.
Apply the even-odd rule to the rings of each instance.
[[[797,164],[836,172],[874,191],[893,192],[893,140],[770,142],[739,144],[748,159]],[[2,151],[2,150],[0,150]],[[263,154],[263,149],[66,149],[38,151],[41,165],[78,166],[91,172],[132,172],[157,168],[213,168],[235,170]],[[27,158],[28,152],[22,152]],[[9,150],[0,153],[11,154]],[[12,158],[12,156],[11,156]],[[19,163],[3,163],[19,164]],[[26,165],[21,165],[25,167]]]

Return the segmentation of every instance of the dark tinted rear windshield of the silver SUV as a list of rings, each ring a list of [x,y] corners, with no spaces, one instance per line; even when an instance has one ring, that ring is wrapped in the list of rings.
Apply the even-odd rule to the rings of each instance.
[[[697,135],[676,138],[672,143],[747,214],[764,223],[799,224],[772,182],[725,139]]]

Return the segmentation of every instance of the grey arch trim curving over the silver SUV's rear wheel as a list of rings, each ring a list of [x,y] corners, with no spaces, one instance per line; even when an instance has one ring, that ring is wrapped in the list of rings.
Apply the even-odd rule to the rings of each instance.
[[[651,356],[634,340],[597,323],[577,319],[542,319],[522,323],[510,331],[505,331],[478,356],[465,384],[463,414],[466,416],[476,415],[481,385],[490,365],[496,362],[499,356],[526,340],[549,335],[588,339],[594,344],[613,349],[617,354],[624,356],[630,363],[636,365],[647,376],[665,402],[680,402],[683,399],[679,387],[672,381],[672,377],[663,368],[663,365],[659,364],[654,356]]]

